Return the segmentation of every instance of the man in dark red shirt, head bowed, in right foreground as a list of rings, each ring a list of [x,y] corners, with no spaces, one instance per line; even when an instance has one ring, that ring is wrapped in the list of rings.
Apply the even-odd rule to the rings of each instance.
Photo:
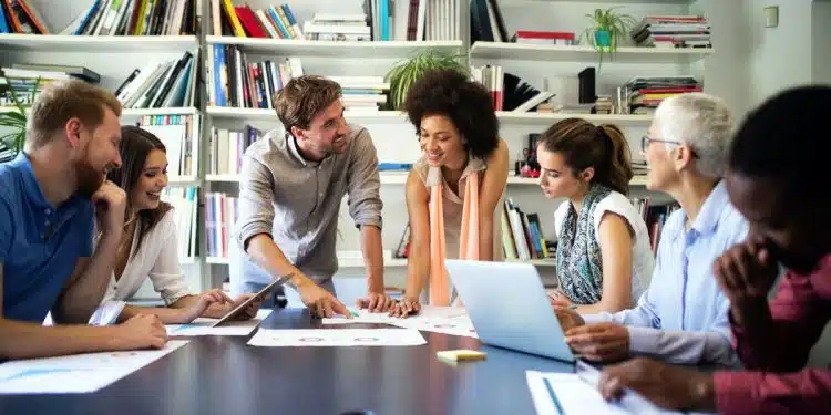
[[[630,388],[673,409],[831,413],[831,370],[804,367],[831,320],[831,142],[818,123],[829,102],[829,86],[782,92],[748,115],[731,147],[727,191],[750,230],[714,272],[746,370],[705,373],[637,359],[604,370],[606,397]],[[779,264],[787,273],[768,301]]]

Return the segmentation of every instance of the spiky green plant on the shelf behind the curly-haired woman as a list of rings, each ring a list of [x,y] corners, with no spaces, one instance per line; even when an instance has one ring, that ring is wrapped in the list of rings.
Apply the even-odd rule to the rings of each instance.
[[[410,60],[392,66],[384,76],[384,81],[390,83],[390,94],[387,100],[390,110],[403,110],[407,91],[428,70],[455,69],[468,73],[465,66],[459,62],[459,58],[441,54],[434,50],[427,50]]]

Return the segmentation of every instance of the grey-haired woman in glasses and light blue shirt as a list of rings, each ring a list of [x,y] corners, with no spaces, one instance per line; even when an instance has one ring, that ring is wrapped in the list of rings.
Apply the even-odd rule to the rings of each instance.
[[[617,313],[579,315],[556,310],[566,341],[588,360],[647,354],[673,363],[738,362],[730,345],[730,304],[712,262],[743,240],[748,225],[721,181],[735,118],[719,98],[688,93],[665,100],[642,149],[650,167],[647,188],[681,209],[667,219],[648,290]]]

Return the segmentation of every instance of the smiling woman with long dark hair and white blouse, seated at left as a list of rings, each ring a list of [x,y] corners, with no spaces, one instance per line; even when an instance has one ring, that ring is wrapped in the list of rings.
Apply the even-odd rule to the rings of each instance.
[[[135,314],[155,314],[164,323],[189,323],[198,317],[222,318],[247,299],[230,300],[214,289],[192,294],[178,266],[176,215],[173,206],[162,201],[167,187],[167,154],[162,141],[152,133],[134,127],[121,129],[122,166],[107,174],[107,179],[124,189],[127,207],[124,214],[124,237],[115,255],[115,266],[104,299],[92,318],[93,323],[107,324]],[[150,278],[166,308],[127,305],[144,281]],[[259,303],[252,304],[244,318],[253,318]]]

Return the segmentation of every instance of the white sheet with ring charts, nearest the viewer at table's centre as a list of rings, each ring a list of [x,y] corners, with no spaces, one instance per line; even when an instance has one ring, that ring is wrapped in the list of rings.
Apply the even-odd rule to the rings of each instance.
[[[248,340],[254,346],[411,346],[425,344],[418,330],[407,329],[260,329]]]

